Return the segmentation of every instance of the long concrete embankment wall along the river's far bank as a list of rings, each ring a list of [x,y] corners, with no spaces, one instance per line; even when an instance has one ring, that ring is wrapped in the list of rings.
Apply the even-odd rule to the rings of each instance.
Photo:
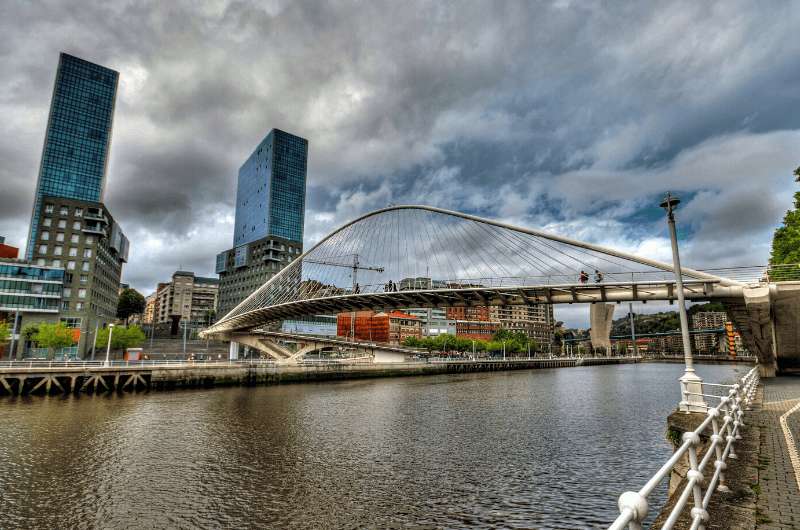
[[[405,363],[272,362],[19,363],[0,368],[0,395],[47,395],[279,385],[344,379],[569,368],[637,363],[638,357],[459,360]]]

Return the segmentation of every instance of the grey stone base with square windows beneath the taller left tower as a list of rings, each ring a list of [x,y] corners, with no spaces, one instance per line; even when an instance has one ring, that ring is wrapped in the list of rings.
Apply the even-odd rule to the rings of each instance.
[[[79,330],[85,357],[95,331],[116,320],[128,239],[99,202],[45,196],[37,225],[32,261],[65,270],[61,320]]]

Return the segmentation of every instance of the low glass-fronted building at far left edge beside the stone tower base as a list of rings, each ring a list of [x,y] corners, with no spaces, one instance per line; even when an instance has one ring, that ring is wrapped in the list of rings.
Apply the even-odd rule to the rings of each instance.
[[[0,258],[0,321],[8,322],[15,358],[26,356],[27,345],[24,340],[20,341],[23,327],[59,321],[64,275],[61,267]],[[9,344],[4,357],[10,349]]]

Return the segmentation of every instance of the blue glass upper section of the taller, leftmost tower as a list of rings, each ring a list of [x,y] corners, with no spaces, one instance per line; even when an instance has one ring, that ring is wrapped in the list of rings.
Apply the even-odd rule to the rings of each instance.
[[[102,202],[119,72],[62,53],[25,249],[33,257],[42,197]]]

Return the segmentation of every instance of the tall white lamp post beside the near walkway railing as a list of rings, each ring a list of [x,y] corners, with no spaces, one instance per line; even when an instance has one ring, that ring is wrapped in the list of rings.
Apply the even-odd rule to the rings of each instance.
[[[706,412],[708,407],[703,396],[703,380],[694,371],[692,359],[692,343],[689,338],[689,317],[686,315],[686,303],[683,297],[683,274],[681,258],[678,254],[678,235],[675,231],[674,210],[680,204],[680,199],[667,193],[660,206],[667,212],[667,225],[669,226],[669,239],[672,243],[672,268],[675,272],[675,289],[678,292],[678,314],[681,318],[681,337],[683,338],[683,359],[686,363],[681,382],[680,410],[684,412]]]

